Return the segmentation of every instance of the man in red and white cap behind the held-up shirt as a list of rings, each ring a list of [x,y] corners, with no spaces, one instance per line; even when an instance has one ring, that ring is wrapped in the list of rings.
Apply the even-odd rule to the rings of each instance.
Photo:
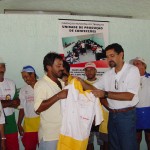
[[[84,67],[84,71],[85,71],[85,75],[86,75],[86,80],[85,82],[91,85],[94,85],[95,83],[97,83],[99,81],[99,79],[96,77],[96,73],[97,73],[97,69],[96,69],[96,65],[93,62],[88,62],[85,64]],[[105,109],[105,108],[103,108]],[[105,112],[108,114],[108,111],[105,109]],[[104,118],[105,119],[105,118]],[[103,124],[103,123],[102,123]],[[101,124],[101,125],[102,125]],[[88,146],[87,146],[87,150],[94,150],[94,135],[96,135],[97,137],[97,143],[98,145],[101,145],[100,148],[103,148],[103,144],[105,143],[105,147],[107,146],[107,142],[108,142],[108,135],[107,134],[101,134],[99,132],[99,125],[95,126],[94,123],[92,125],[91,128],[91,133],[90,133],[90,137],[89,137],[89,142],[88,142]],[[104,143],[103,143],[104,141]]]

